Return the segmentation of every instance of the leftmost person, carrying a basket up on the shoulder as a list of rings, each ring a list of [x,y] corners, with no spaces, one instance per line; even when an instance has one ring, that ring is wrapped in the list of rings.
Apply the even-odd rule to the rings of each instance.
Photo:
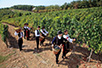
[[[18,45],[19,45],[19,49],[20,49],[20,51],[22,50],[22,44],[23,44],[23,32],[22,32],[22,30],[21,30],[21,28],[15,28],[15,33],[14,33],[14,35],[18,35]]]

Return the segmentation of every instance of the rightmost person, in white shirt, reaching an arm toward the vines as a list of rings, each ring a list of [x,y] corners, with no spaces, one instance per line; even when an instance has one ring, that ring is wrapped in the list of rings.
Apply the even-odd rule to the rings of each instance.
[[[66,54],[69,52],[69,42],[73,43],[75,41],[75,39],[71,39],[69,37],[67,30],[64,31],[63,38],[66,39],[66,40],[64,41],[64,45],[63,45],[63,55],[62,55],[62,58],[65,59],[65,58],[67,58]]]

